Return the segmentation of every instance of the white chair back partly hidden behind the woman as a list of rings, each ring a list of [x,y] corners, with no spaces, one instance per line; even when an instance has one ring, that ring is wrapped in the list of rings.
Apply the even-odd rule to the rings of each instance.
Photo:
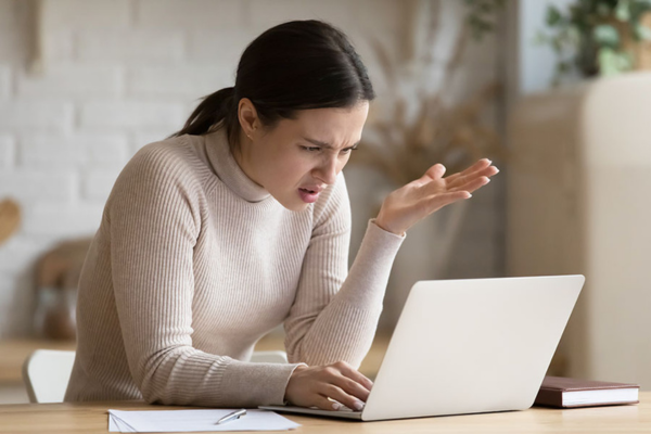
[[[255,352],[256,363],[286,363],[285,352]],[[37,349],[23,363],[23,382],[30,403],[63,403],[73,372],[75,352]]]

